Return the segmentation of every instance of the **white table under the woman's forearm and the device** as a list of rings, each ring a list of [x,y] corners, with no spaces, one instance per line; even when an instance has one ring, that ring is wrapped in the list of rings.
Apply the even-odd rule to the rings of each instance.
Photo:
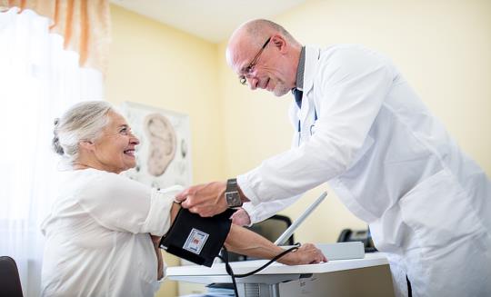
[[[231,262],[235,274],[251,272],[266,260]],[[212,267],[169,267],[170,280],[178,282],[230,283],[225,264]],[[394,296],[386,257],[367,253],[364,259],[336,260],[312,265],[273,263],[265,270],[236,279],[241,297],[299,296]]]

